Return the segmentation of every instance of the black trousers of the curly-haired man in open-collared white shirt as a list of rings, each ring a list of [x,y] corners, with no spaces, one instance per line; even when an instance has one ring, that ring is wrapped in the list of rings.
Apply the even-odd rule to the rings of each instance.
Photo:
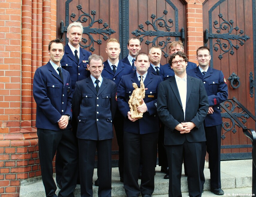
[[[202,195],[200,180],[201,142],[188,142],[181,145],[166,145],[169,164],[169,197],[181,197],[181,171],[183,158],[187,164],[187,182],[190,197]]]

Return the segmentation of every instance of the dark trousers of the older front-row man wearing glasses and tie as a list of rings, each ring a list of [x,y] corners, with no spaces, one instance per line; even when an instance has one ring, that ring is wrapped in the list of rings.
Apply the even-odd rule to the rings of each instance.
[[[93,196],[95,152],[98,153],[99,197],[111,197],[112,139],[88,140],[78,138],[81,197]]]

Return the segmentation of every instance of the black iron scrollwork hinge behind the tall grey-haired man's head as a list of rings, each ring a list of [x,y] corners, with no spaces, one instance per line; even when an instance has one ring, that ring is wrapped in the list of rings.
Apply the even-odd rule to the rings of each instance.
[[[77,20],[74,20],[75,17],[76,17],[76,14],[75,13],[71,13],[70,15],[70,20],[72,22],[74,21],[79,21],[81,22],[82,24],[86,24],[87,21],[88,21],[88,18],[90,18],[90,22],[89,24],[87,23],[87,26],[84,27],[84,34],[87,34],[89,36],[89,39],[90,41],[88,42],[88,39],[86,38],[82,38],[82,43],[84,44],[81,44],[81,47],[82,48],[88,48],[90,47],[90,51],[93,52],[95,50],[94,48],[94,43],[97,43],[97,44],[102,44],[102,40],[101,39],[97,39],[95,40],[92,36],[92,34],[100,34],[102,35],[103,39],[104,40],[107,40],[108,39],[108,36],[110,36],[111,34],[113,33],[116,33],[114,30],[112,30],[111,28],[107,28],[108,27],[108,24],[105,22],[103,23],[103,19],[95,19],[95,15],[96,15],[96,11],[95,10],[91,10],[91,13],[88,14],[88,13],[85,13],[83,10],[82,10],[82,6],[81,5],[78,5],[76,6],[77,9],[79,11],[82,12],[82,14],[80,16],[78,16],[78,19]],[[92,15],[92,16],[91,16]],[[93,26],[94,23],[99,23],[99,24],[103,24],[103,27],[98,29],[98,28],[91,28]],[[85,25],[83,25],[85,26]],[[66,27],[65,27],[65,31],[66,31]],[[108,35],[108,36],[107,36]],[[88,43],[88,44],[87,44]]]

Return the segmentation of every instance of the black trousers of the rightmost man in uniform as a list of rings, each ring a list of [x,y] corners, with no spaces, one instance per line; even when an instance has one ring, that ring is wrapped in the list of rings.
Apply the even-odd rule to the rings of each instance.
[[[210,185],[212,188],[221,188],[220,181],[220,144],[221,144],[221,124],[211,127],[205,127],[206,145],[202,152],[201,163],[201,182],[205,183],[205,177],[203,171],[205,167],[205,155],[206,151],[209,154],[209,168],[210,168]]]

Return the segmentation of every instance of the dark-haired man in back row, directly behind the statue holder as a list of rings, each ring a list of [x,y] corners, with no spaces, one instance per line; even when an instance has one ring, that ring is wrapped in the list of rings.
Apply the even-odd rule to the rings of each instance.
[[[127,49],[129,50],[129,55],[126,56],[124,59],[121,59],[120,61],[122,61],[128,65],[131,65],[133,70],[136,70],[134,61],[141,49],[140,40],[137,37],[130,38],[128,40]]]

